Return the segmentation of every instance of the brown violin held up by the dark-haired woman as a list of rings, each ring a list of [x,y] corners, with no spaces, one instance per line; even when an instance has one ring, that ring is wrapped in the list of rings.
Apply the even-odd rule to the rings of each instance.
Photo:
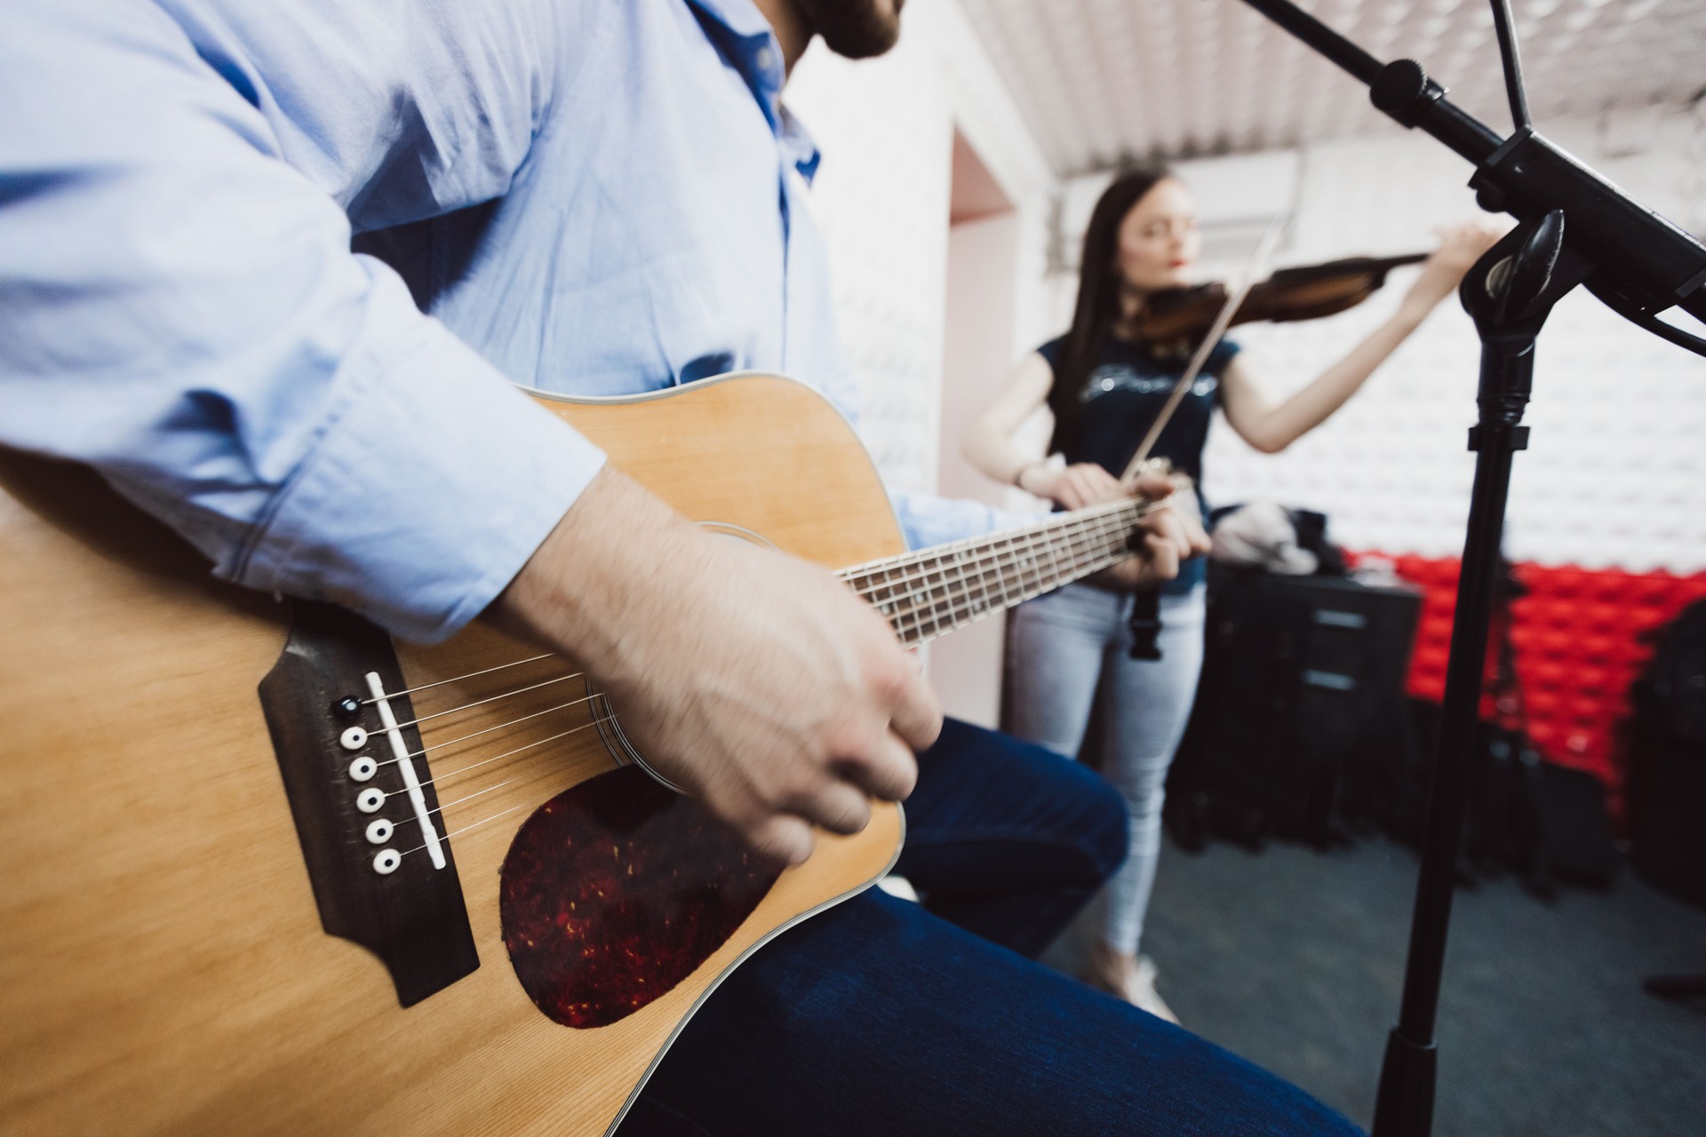
[[[1280,269],[1250,286],[1230,322],[1314,320],[1338,315],[1375,295],[1392,269],[1419,264],[1428,256],[1414,252],[1401,257],[1346,257]],[[1218,281],[1155,291],[1145,310],[1134,317],[1133,331],[1158,353],[1187,353],[1215,326],[1227,298],[1227,286]]]

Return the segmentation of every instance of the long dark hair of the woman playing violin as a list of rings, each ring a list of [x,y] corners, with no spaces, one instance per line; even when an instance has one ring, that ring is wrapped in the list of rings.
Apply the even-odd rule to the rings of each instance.
[[[1090,225],[1083,230],[1083,257],[1078,263],[1078,303],[1073,307],[1071,331],[1061,343],[1059,368],[1049,389],[1049,411],[1054,413],[1051,452],[1063,448],[1078,392],[1100,363],[1102,348],[1107,346],[1114,320],[1119,319],[1119,291],[1124,283],[1119,280],[1119,223],[1143,194],[1169,177],[1172,170],[1163,165],[1126,170],[1102,191],[1090,213]]]

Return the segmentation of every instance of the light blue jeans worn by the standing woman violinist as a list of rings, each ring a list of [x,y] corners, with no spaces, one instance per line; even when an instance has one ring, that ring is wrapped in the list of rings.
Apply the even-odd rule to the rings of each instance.
[[[1102,939],[1136,955],[1155,886],[1167,767],[1203,672],[1204,590],[1162,595],[1160,660],[1131,658],[1131,597],[1066,585],[1022,603],[1007,636],[1007,728],[1078,757],[1099,704],[1102,774],[1131,813],[1126,864],[1107,883]]]

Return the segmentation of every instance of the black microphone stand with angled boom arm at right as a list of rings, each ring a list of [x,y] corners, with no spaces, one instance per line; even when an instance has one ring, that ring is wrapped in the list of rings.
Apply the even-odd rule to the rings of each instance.
[[[1500,539],[1512,459],[1527,448],[1523,409],[1534,344],[1558,300],[1587,285],[1619,315],[1706,355],[1706,339],[1657,317],[1677,305],[1706,320],[1706,245],[1641,206],[1542,138],[1529,123],[1508,0],[1491,0],[1517,130],[1500,138],[1445,99],[1414,60],[1380,63],[1288,0],[1244,0],[1370,89],[1375,107],[1419,128],[1476,165],[1471,186],[1517,228],[1489,249],[1459,290],[1481,336],[1479,421],[1462,576],[1452,617],[1440,740],[1399,1023],[1387,1036],[1373,1137],[1428,1137],[1433,1128],[1433,1038],[1452,917],[1457,852],[1469,803],[1471,745],[1481,704],[1488,629],[1500,576]]]

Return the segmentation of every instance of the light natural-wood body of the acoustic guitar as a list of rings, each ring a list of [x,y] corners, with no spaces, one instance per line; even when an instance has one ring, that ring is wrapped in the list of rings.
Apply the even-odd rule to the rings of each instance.
[[[831,568],[904,549],[865,450],[798,384],[747,375],[546,406],[732,539]],[[473,955],[428,953],[421,967],[452,968],[450,982],[387,973],[328,934],[338,881],[310,880],[305,861],[304,777],[334,798],[324,857],[367,866],[372,849],[338,830],[368,820],[338,796],[358,788],[341,765],[353,752],[328,742],[346,724],[295,678],[324,644],[305,638],[304,609],[213,581],[89,470],[0,452],[5,1134],[604,1134],[722,975],[899,851],[901,813],[885,806],[858,837],[821,834],[815,856],[771,883],[703,817],[655,813],[682,799],[630,764],[577,667],[553,656],[456,678],[537,655],[474,626],[394,655],[409,689],[438,684],[399,699],[397,716],[421,719],[408,733],[428,752],[415,769],[442,810],[449,864],[435,871],[409,847],[420,840],[403,840],[418,828],[411,798],[387,788],[375,817],[396,818],[403,868],[351,869],[345,893],[428,881],[466,909],[438,956],[457,955],[459,934]],[[384,728],[355,721],[372,730],[365,753],[391,757]],[[281,777],[292,740],[324,750],[287,767],[297,782]],[[640,799],[650,820],[626,805]],[[582,815],[606,827],[590,851]],[[677,834],[708,844],[672,849]],[[737,897],[732,915],[723,895]],[[399,953],[440,938],[386,903],[401,912],[386,932]],[[464,919],[452,915],[445,927]],[[575,1002],[570,956],[604,968],[582,978],[621,978],[614,994]]]

